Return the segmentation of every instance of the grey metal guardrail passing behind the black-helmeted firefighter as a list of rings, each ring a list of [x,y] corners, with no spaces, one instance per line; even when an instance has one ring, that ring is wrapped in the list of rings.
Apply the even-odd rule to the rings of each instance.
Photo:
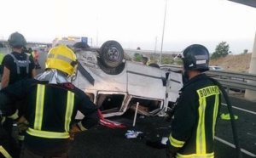
[[[182,68],[176,65],[160,65],[165,71],[178,71]],[[206,74],[220,82],[224,87],[235,90],[253,90],[256,91],[256,74],[238,73],[231,71],[207,71]]]

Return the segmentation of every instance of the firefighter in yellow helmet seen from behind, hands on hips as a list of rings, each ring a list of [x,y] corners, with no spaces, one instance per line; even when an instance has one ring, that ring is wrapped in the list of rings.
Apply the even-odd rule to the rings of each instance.
[[[13,115],[9,103],[23,100],[24,114],[18,122],[26,135],[20,157],[67,157],[74,133],[94,127],[99,121],[96,104],[71,83],[77,59],[70,48],[51,48],[45,71],[0,91],[3,116]],[[77,111],[84,119],[74,122]]]

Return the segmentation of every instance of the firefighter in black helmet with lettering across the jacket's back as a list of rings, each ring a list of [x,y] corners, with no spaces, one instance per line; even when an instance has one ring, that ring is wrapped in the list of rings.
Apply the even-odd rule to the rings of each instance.
[[[194,44],[177,58],[183,61],[183,81],[187,82],[183,82],[175,104],[166,157],[214,157],[220,90],[203,73],[209,70],[209,52],[204,46]]]

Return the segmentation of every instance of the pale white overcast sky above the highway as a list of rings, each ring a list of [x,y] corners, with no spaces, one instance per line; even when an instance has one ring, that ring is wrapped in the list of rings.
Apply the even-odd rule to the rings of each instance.
[[[241,54],[253,51],[256,36],[256,8],[227,0],[4,0],[0,14],[4,40],[19,31],[29,42],[78,36],[93,47],[115,40],[153,51],[198,43],[210,53],[227,42]]]

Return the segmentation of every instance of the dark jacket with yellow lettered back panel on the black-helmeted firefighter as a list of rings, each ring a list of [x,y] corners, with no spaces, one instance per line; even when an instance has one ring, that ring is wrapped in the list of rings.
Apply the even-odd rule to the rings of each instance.
[[[177,157],[214,157],[213,140],[220,105],[220,92],[205,74],[183,85],[177,99],[171,146]]]

